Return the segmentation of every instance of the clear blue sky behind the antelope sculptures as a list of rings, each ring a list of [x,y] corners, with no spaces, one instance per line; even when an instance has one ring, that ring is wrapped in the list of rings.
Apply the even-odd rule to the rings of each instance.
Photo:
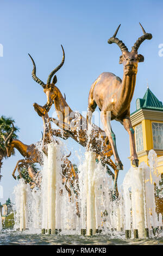
[[[66,94],[72,109],[86,111],[91,84],[99,74],[109,71],[121,78],[123,76],[123,67],[118,64],[121,51],[116,44],[107,43],[120,23],[117,37],[129,50],[142,35],[139,22],[146,32],[153,35],[152,40],[146,40],[139,48],[145,62],[139,64],[131,112],[135,111],[137,97],[145,94],[147,80],[149,88],[162,101],[163,57],[158,54],[159,44],[163,44],[162,11],[161,0],[1,0],[0,44],[4,50],[3,57],[0,57],[0,114],[15,119],[20,127],[18,136],[23,143],[39,141],[42,119],[34,111],[33,103],[44,105],[46,95],[32,79],[28,53],[35,60],[37,76],[46,83],[49,73],[61,61],[61,44],[65,49],[65,64],[57,72],[57,86]],[[54,107],[49,115],[53,112]],[[112,121],[112,130],[116,134],[118,153],[124,164],[118,181],[120,185],[130,167],[129,137],[116,121]],[[81,149],[73,141],[66,144],[74,150]],[[15,156],[3,162],[0,185],[4,189],[4,198],[0,198],[0,202],[11,195],[16,185],[11,173],[20,159],[23,157],[16,150]]]

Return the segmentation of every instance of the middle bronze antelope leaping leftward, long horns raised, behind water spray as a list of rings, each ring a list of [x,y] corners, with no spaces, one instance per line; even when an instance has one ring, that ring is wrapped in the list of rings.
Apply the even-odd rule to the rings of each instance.
[[[62,46],[61,46],[62,47]],[[65,61],[65,52],[64,48],[62,47],[62,52],[63,52],[63,57],[60,65],[55,68],[51,74],[48,76],[47,84],[43,83],[37,76],[36,76],[36,65],[33,60],[33,58],[30,56],[32,59],[33,63],[33,70],[32,70],[32,77],[34,81],[39,83],[43,87],[43,92],[47,96],[47,103],[42,107],[38,105],[37,103],[34,103],[34,108],[37,114],[40,115],[40,117],[45,116],[49,109],[51,108],[52,104],[54,103],[55,109],[57,111],[58,119],[49,119],[49,121],[54,121],[56,125],[59,126],[61,130],[56,130],[57,136],[62,137],[67,139],[68,137],[73,138],[77,143],[83,145],[83,147],[86,148],[87,145],[87,130],[86,130],[86,119],[78,113],[72,111],[70,106],[68,106],[65,98],[62,96],[59,88],[55,86],[57,83],[57,77],[56,75],[53,77],[53,75],[61,68],[61,66],[64,64]],[[53,80],[52,80],[53,77]],[[52,80],[52,82],[51,82]],[[109,167],[106,166],[108,169],[108,173],[112,176],[114,179],[114,187],[116,189],[116,194],[117,192],[117,178],[118,178],[118,170],[114,162],[110,159],[112,156],[112,149],[111,145],[105,143],[105,132],[100,129],[98,126],[92,124],[93,130],[91,133],[91,141],[92,141],[92,150],[99,155],[101,158],[102,164],[106,165],[109,164],[114,171],[115,175],[111,172]],[[63,132],[64,133],[63,133]],[[98,157],[98,159],[99,159]]]

